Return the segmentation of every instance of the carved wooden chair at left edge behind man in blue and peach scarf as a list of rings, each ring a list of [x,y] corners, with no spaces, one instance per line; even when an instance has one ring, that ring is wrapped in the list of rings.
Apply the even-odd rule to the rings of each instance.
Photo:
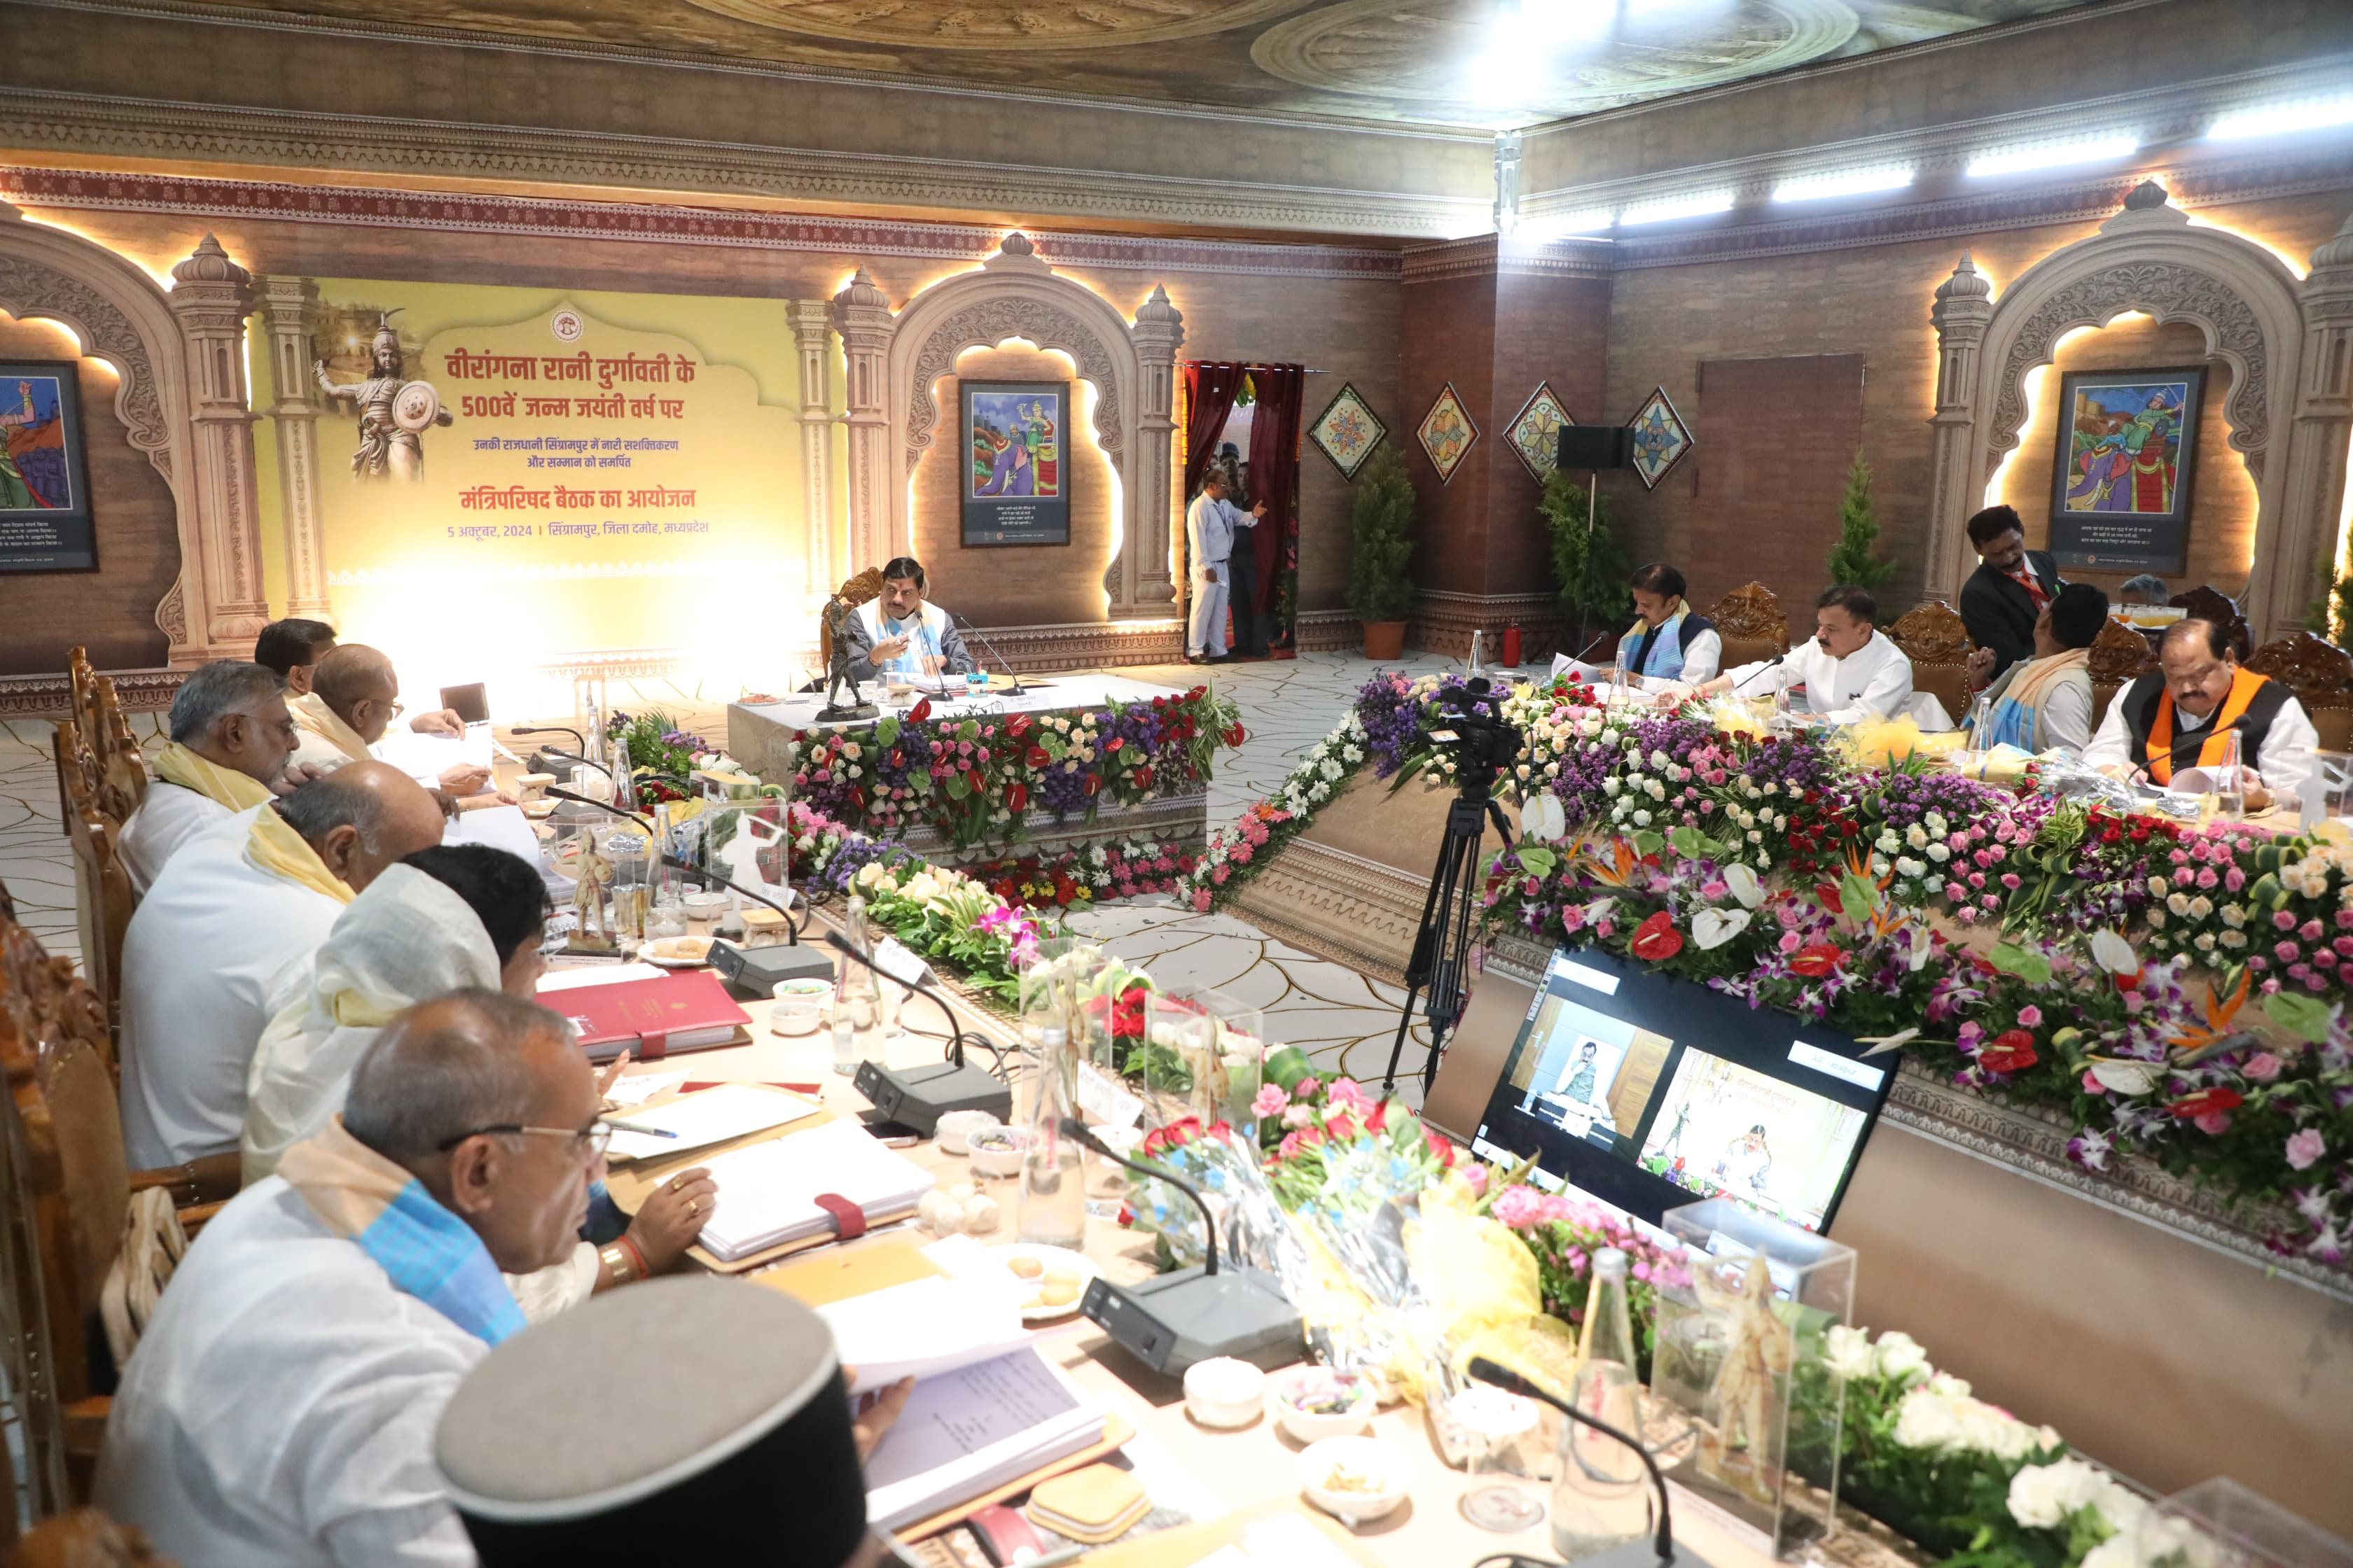
[[[12,1173],[0,1192],[0,1232],[9,1239],[0,1265],[19,1269],[28,1244],[38,1281],[38,1307],[14,1314],[12,1333],[21,1338],[9,1349],[40,1371],[33,1392],[47,1401],[42,1436],[54,1429],[64,1443],[61,1455],[35,1453],[33,1467],[87,1479],[115,1382],[104,1300],[132,1194],[162,1190],[181,1225],[200,1225],[235,1194],[238,1157],[127,1168],[96,992],[14,922],[0,924],[0,1145]],[[16,1281],[12,1291],[24,1295]]]

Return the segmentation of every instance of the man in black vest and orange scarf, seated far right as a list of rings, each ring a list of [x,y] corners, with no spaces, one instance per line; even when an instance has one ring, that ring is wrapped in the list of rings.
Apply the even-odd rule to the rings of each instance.
[[[2158,644],[2158,672],[2115,693],[2082,759],[2165,785],[2188,769],[2219,764],[2228,733],[2238,736],[2240,762],[2252,766],[2249,809],[2271,795],[2287,799],[2311,788],[2320,733],[2304,703],[2280,682],[2240,670],[2212,621],[2174,621]]]

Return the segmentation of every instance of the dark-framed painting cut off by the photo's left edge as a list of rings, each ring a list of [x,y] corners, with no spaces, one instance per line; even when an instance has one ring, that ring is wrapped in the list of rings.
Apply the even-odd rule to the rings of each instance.
[[[94,571],[73,360],[0,360],[0,571]]]

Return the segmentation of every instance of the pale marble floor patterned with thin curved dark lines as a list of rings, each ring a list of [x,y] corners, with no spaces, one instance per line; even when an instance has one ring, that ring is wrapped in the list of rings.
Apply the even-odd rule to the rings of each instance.
[[[1414,675],[1454,668],[1442,658],[1412,658]],[[1311,745],[1339,724],[1372,665],[1344,654],[1294,661],[1122,670],[1136,679],[1188,686],[1209,675],[1235,701],[1247,738],[1221,755],[1209,785],[1209,825],[1219,827],[1268,795]],[[725,738],[727,708],[664,679],[624,682],[609,693],[626,712],[661,710],[680,729]],[[160,715],[134,715],[141,738],[158,733]],[[73,858],[59,830],[56,773],[49,724],[0,724],[0,882],[16,898],[19,919],[49,947],[78,952],[73,917]],[[1358,971],[1280,943],[1233,914],[1195,914],[1169,898],[1111,903],[1071,919],[1073,931],[1101,938],[1120,959],[1148,969],[1160,985],[1212,987],[1242,1006],[1261,1009],[1266,1037],[1301,1046],[1320,1067],[1379,1079],[1398,1027],[1402,992]],[[1426,1034],[1417,1027],[1417,1039]],[[1409,1044],[1400,1072],[1409,1074],[1421,1048]],[[1405,1088],[1405,1079],[1400,1079]],[[1419,1086],[1414,1086],[1417,1091]]]

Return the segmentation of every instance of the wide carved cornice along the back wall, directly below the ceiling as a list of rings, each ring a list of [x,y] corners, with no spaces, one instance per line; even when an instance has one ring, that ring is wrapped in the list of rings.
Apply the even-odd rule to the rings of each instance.
[[[33,89],[0,89],[0,146],[179,167],[231,162],[360,169],[951,212],[969,212],[974,190],[988,190],[991,207],[1045,216],[1337,235],[1442,237],[1487,214],[1485,193],[1457,200],[1325,186],[1245,186],[1169,174],[308,115]]]

